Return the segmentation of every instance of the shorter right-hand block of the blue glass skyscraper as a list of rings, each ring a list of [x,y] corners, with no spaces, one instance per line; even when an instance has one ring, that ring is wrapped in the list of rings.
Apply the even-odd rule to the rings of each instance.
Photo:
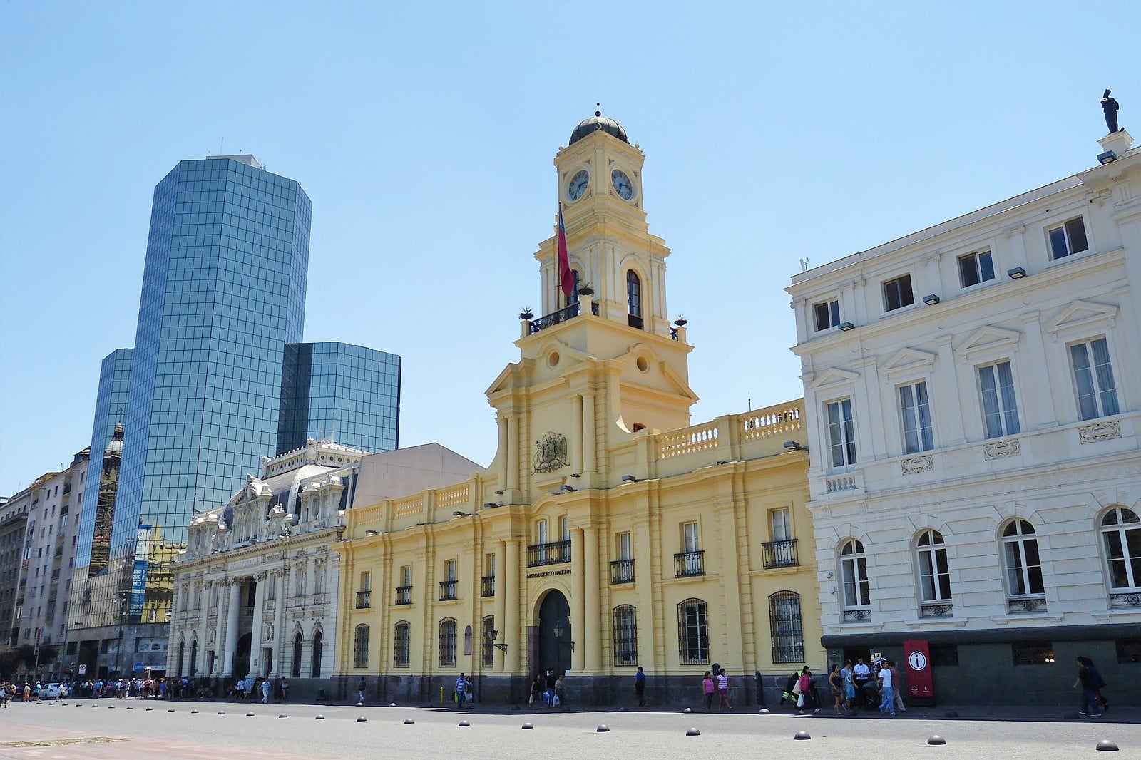
[[[278,454],[307,438],[370,452],[396,448],[399,411],[399,356],[340,342],[285,346]]]

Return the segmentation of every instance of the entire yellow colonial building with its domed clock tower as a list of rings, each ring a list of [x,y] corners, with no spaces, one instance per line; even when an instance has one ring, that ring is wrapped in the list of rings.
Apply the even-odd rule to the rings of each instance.
[[[477,700],[525,702],[566,674],[572,703],[694,702],[714,665],[734,697],[771,697],[824,665],[802,403],[690,426],[683,321],[666,312],[664,241],[642,162],[596,113],[555,159],[558,235],[535,258],[544,316],[492,382],[499,450],[466,483],[346,512],[342,694],[428,702],[461,672]]]

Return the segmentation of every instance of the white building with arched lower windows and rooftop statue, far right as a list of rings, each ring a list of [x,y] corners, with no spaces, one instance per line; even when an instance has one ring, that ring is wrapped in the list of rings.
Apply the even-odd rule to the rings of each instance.
[[[923,642],[944,704],[1067,704],[1084,655],[1136,704],[1141,149],[1100,143],[787,288],[831,661]]]

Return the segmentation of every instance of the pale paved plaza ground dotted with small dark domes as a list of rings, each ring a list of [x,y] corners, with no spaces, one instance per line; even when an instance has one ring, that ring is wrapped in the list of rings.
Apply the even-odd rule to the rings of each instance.
[[[129,709],[128,709],[129,708]],[[173,710],[173,712],[169,712]],[[197,710],[196,713],[192,712]],[[225,714],[218,714],[224,711]],[[248,715],[246,713],[253,713]],[[317,715],[323,720],[316,720]],[[281,718],[280,715],[288,715]],[[365,718],[359,721],[358,718]],[[412,720],[414,722],[406,723]],[[469,726],[461,727],[461,720]],[[531,722],[534,728],[524,730]],[[600,725],[609,731],[599,733]],[[696,728],[699,736],[687,736]],[[798,731],[809,741],[796,741]],[[928,738],[938,734],[942,746]],[[1109,738],[1119,752],[1101,753]],[[423,708],[79,700],[0,711],[5,760],[377,758],[1141,758],[1141,725],[681,712],[464,712]]]

